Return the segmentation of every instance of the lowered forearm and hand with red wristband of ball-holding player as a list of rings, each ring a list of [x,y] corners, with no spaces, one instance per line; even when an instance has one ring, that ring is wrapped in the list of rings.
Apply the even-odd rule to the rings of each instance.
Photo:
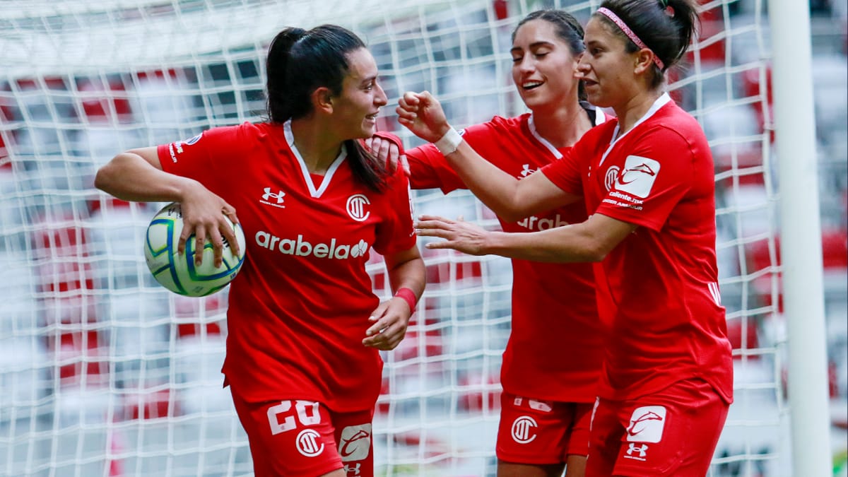
[[[388,280],[392,289],[410,289],[416,301],[424,293],[424,261],[417,246],[394,254],[384,255]],[[394,296],[383,301],[368,318],[371,326],[365,330],[362,344],[378,350],[388,351],[396,348],[406,335],[412,310],[406,300]]]

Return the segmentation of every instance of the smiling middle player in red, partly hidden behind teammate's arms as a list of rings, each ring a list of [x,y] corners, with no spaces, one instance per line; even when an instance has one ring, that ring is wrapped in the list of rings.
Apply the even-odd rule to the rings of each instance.
[[[478,154],[522,179],[560,160],[594,124],[607,120],[581,103],[571,74],[583,53],[583,26],[563,10],[528,14],[512,33],[512,79],[531,113],[466,127]],[[564,71],[566,73],[564,73]],[[371,146],[378,149],[380,141]],[[432,144],[406,151],[412,188],[467,188]],[[501,228],[526,233],[585,221],[583,201]],[[582,477],[589,420],[603,354],[602,325],[589,263],[512,261],[512,329],[500,380],[496,452],[499,477]]]

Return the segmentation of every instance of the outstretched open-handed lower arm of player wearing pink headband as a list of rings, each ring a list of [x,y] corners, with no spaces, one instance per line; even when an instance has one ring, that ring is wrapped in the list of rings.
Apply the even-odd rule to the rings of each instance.
[[[582,223],[533,233],[491,232],[475,224],[438,216],[421,216],[416,229],[421,237],[444,242],[428,249],[454,249],[470,255],[501,255],[531,261],[602,261],[637,226],[594,214]]]

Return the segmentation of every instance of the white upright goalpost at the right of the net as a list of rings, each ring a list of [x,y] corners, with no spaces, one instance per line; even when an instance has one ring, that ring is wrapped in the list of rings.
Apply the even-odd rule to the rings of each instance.
[[[769,0],[793,475],[831,475],[809,3]]]

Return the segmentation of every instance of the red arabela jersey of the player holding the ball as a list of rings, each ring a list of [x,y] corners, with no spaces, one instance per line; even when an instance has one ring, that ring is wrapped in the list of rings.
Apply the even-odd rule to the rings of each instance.
[[[343,149],[312,176],[290,123],[210,129],[159,146],[165,171],[192,177],[233,205],[247,257],[232,281],[223,373],[245,401],[321,401],[371,408],[379,351],[362,345],[379,304],[365,262],[416,244],[403,171],[378,194],[358,182]]]

